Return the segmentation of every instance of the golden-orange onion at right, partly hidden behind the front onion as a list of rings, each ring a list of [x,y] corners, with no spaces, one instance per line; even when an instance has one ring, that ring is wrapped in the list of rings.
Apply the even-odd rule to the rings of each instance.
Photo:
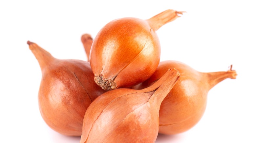
[[[228,71],[199,72],[179,61],[160,62],[155,73],[142,84],[133,87],[143,89],[158,80],[166,68],[176,68],[181,77],[165,97],[160,106],[159,133],[174,135],[185,132],[196,125],[206,108],[208,91],[226,78],[235,79],[232,65]]]

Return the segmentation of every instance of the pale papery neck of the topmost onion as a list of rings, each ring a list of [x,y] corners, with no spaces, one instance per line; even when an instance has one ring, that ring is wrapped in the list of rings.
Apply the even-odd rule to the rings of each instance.
[[[175,11],[172,9],[168,9],[151,17],[146,21],[148,21],[151,28],[157,31],[164,24],[174,21],[176,18],[180,17],[178,14],[182,14],[182,13],[183,11]]]

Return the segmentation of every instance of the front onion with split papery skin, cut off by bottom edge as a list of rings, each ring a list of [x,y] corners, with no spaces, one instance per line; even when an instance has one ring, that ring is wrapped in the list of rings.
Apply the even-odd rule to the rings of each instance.
[[[80,143],[154,143],[160,104],[179,77],[177,70],[167,69],[148,88],[118,88],[103,93],[85,113]]]

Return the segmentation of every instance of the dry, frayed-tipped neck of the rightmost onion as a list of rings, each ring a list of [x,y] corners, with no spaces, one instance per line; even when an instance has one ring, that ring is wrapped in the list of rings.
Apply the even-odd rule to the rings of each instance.
[[[230,69],[228,71],[208,72],[204,74],[207,76],[208,79],[209,90],[224,79],[236,79],[237,76],[236,71],[232,70],[232,65],[230,66]]]

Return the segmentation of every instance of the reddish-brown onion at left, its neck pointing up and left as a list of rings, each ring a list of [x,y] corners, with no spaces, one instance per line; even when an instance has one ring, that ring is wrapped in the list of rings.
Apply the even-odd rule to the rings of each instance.
[[[38,93],[42,118],[60,134],[80,136],[86,109],[106,90],[94,82],[89,62],[56,59],[37,44],[27,43],[42,71]]]

